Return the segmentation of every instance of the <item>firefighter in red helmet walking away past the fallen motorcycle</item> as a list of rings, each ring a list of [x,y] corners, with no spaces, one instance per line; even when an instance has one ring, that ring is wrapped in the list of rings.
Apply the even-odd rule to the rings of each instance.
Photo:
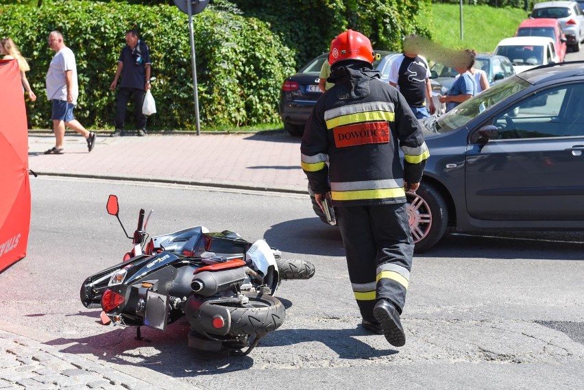
[[[300,151],[317,203],[332,199],[363,328],[401,347],[414,248],[406,191],[418,188],[430,154],[404,97],[373,70],[375,56],[351,29],[332,40],[335,85],[313,108]]]

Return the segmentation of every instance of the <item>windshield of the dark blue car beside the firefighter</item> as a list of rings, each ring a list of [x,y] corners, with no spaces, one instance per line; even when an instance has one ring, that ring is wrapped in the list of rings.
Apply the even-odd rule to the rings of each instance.
[[[531,86],[520,77],[513,76],[495,84],[480,94],[460,103],[459,106],[440,117],[431,117],[424,125],[428,130],[438,133],[448,133],[465,125],[478,114],[489,110],[496,103]]]

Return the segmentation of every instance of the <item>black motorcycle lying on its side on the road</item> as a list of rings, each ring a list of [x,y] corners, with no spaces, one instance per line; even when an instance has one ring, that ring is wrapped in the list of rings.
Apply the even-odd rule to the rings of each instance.
[[[141,326],[165,330],[186,316],[189,347],[248,354],[284,322],[284,306],[273,296],[280,282],[315,273],[306,260],[282,260],[264,240],[250,243],[228,230],[193,226],[148,239],[152,210],[146,221],[140,210],[136,231],[128,236],[116,195],[108,198],[107,210],[133,247],[122,263],[88,277],[80,298],[86,308],[104,310],[104,323],[137,326],[137,339]]]

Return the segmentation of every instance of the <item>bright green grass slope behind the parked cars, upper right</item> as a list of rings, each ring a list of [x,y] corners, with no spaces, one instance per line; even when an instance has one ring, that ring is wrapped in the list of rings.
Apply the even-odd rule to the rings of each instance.
[[[461,40],[459,4],[433,3],[430,10],[430,32],[434,42],[452,49],[475,49],[479,53],[492,53],[502,38],[515,34],[528,14],[520,8],[464,4]],[[420,21],[428,20],[428,15],[421,16]]]

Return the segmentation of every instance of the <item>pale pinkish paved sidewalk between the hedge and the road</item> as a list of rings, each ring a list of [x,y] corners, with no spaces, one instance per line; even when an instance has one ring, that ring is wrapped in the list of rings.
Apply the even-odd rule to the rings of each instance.
[[[285,132],[149,135],[98,134],[87,152],[83,137],[67,134],[64,154],[45,155],[50,134],[29,135],[29,168],[39,174],[173,182],[306,193],[300,138]]]

